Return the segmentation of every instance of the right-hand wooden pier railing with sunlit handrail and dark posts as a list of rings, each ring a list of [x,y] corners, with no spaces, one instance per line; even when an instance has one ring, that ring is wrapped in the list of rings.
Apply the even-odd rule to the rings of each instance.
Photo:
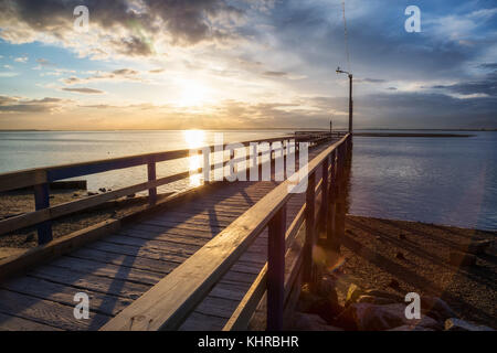
[[[339,197],[346,156],[351,149],[351,136],[320,152],[300,168],[299,180],[308,178],[306,204],[286,229],[286,204],[292,197],[290,180],[281,183],[271,193],[235,220],[230,226],[166,276],[144,296],[112,319],[103,330],[177,330],[208,296],[213,286],[234,265],[256,237],[268,228],[267,263],[242,299],[225,325],[225,330],[247,328],[263,296],[267,297],[267,329],[283,328],[285,302],[296,280],[314,276],[313,247],[317,242],[317,224],[327,229],[328,240],[342,232],[345,206]],[[321,178],[316,182],[318,171]],[[316,203],[320,195],[320,207]],[[317,221],[316,221],[317,216]],[[335,222],[332,220],[336,218]],[[305,226],[305,242],[285,270],[285,255],[292,250],[297,234]]]

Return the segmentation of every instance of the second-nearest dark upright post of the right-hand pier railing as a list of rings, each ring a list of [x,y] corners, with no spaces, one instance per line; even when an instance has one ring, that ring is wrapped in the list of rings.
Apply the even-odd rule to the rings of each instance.
[[[313,279],[313,247],[315,231],[315,207],[316,207],[316,174],[313,172],[307,181],[306,192],[306,240],[304,244],[304,281],[310,282]]]

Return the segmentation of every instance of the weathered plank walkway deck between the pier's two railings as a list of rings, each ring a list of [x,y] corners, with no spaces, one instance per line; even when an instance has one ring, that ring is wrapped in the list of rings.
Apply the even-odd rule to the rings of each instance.
[[[329,143],[309,151],[309,160]],[[317,175],[318,176],[318,175]],[[277,182],[223,182],[163,211],[0,282],[0,330],[98,330],[271,192]],[[287,203],[287,227],[306,202]],[[221,330],[267,261],[267,228],[180,330]],[[89,297],[77,320],[74,295]]]

